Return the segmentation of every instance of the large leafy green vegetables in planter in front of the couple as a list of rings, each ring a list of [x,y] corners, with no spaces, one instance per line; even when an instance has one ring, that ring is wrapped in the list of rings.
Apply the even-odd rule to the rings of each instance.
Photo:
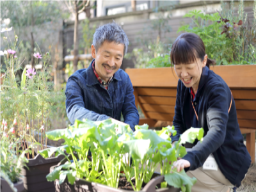
[[[129,125],[118,124],[111,119],[102,122],[76,120],[67,129],[47,132],[50,140],[65,140],[59,148],[40,152],[44,157],[51,156],[53,152],[65,155],[65,161],[63,159],[58,166],[51,168],[47,180],[56,180],[57,191],[83,191],[85,188],[89,191],[94,188],[97,191],[120,191],[120,180],[126,180],[133,191],[140,191],[145,184],[148,184],[147,188],[153,186],[156,189],[154,185],[157,183],[150,180],[153,175],[156,177],[157,166],[161,166],[158,174],[161,179],[156,179],[161,183],[159,187],[167,191],[168,186],[189,191],[196,179],[188,177],[184,170],[177,173],[172,164],[178,157],[186,155],[186,148],[181,144],[193,142],[196,138],[201,140],[204,130],[191,128],[172,145],[170,134],[176,134],[174,127],[153,131],[145,124],[136,125],[135,129],[132,132]]]

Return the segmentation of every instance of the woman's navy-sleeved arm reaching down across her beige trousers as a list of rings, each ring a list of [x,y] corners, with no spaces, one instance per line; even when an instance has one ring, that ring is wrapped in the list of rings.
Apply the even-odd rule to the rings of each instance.
[[[227,90],[223,84],[214,86],[209,93],[206,115],[209,131],[202,143],[198,142],[191,152],[182,158],[191,164],[189,170],[195,170],[202,166],[207,157],[223,144],[226,136],[230,100],[230,90]]]

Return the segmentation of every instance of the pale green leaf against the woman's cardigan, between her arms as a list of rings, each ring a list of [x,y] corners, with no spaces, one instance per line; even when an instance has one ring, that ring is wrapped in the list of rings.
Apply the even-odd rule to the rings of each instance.
[[[193,128],[186,130],[183,132],[183,134],[180,136],[180,144],[184,144],[186,142],[188,143],[194,143],[196,139],[199,141],[202,140],[204,136],[204,129],[203,128]]]

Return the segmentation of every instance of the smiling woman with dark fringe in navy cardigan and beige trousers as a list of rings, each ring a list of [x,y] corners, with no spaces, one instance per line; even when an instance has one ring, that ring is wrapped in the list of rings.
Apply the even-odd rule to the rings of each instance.
[[[196,177],[192,191],[238,188],[251,158],[237,123],[232,92],[220,76],[209,70],[214,61],[207,58],[198,35],[180,35],[172,45],[171,62],[179,77],[173,118],[177,135],[172,141],[179,140],[190,127],[203,127],[205,132],[202,143],[195,142],[188,154],[174,163],[177,171],[185,168],[189,177]]]

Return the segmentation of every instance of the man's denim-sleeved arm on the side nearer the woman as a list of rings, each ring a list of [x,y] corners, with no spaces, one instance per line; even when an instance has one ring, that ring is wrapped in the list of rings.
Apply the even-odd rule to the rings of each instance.
[[[133,95],[131,79],[128,77],[127,81],[128,82],[122,108],[122,114],[124,116],[125,124],[129,124],[131,129],[134,131],[135,125],[139,124],[140,116],[138,113],[138,109],[135,106],[135,97]]]

